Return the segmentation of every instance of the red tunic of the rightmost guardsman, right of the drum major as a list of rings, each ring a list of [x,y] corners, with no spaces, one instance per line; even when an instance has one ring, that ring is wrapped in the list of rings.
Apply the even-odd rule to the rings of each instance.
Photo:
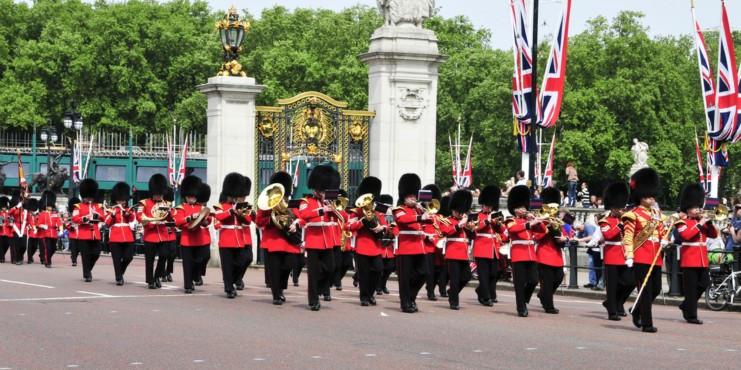
[[[677,223],[677,231],[682,237],[680,249],[681,267],[708,267],[708,238],[717,238],[718,229],[712,223],[700,225],[695,219],[685,219]]]

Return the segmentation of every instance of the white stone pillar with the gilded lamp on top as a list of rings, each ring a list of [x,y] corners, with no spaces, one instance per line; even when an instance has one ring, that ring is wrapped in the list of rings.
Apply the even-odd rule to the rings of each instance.
[[[197,89],[208,98],[206,177],[211,187],[209,204],[213,205],[218,203],[226,174],[239,172],[252,180],[256,178],[255,98],[265,86],[251,77],[217,76]],[[255,186],[253,181],[250,194]],[[218,237],[211,241],[211,261],[218,265]]]

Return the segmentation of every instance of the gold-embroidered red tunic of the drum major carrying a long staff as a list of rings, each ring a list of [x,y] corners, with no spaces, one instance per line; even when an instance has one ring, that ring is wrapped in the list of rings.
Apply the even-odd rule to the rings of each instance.
[[[664,237],[664,224],[653,220],[651,210],[644,207],[636,207],[625,212],[622,217],[625,231],[623,234],[623,245],[625,246],[625,258],[633,258],[636,263],[650,265],[657,253],[656,266],[664,265],[663,253],[661,252],[661,239]],[[641,245],[635,245],[635,237],[643,230],[649,222],[658,222],[653,234]]]

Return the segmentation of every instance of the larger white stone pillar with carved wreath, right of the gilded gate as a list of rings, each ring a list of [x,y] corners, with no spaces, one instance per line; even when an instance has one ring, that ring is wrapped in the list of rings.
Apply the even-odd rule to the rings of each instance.
[[[371,37],[368,53],[370,169],[383,192],[397,198],[401,175],[413,172],[422,185],[435,181],[438,52],[431,30],[412,25],[383,26]]]

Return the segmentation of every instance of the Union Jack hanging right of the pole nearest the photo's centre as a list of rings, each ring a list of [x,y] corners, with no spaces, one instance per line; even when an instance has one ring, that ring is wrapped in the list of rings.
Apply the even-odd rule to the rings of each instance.
[[[571,0],[564,3],[558,32],[553,39],[548,57],[543,88],[540,90],[538,126],[549,128],[556,125],[561,113],[563,89],[566,82],[566,56],[569,48],[569,20],[571,19]]]

